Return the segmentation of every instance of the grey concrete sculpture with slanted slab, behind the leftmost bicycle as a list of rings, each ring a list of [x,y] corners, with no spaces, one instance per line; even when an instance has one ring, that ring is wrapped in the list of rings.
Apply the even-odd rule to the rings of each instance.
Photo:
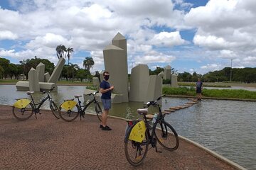
[[[60,58],[51,76],[49,73],[44,73],[45,65],[43,63],[38,64],[36,69],[31,68],[28,72],[28,81],[18,81],[16,83],[16,89],[18,91],[43,91],[55,87],[54,90],[56,91],[56,83],[60,77],[64,64],[65,59]]]

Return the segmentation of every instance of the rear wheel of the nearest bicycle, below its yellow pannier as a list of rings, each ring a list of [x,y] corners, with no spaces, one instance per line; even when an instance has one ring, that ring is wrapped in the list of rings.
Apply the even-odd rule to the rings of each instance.
[[[147,132],[145,132],[145,139],[142,142],[135,142],[134,140],[127,139],[124,142],[124,152],[129,164],[132,164],[133,166],[142,164],[144,158],[146,157],[148,148],[149,136]]]

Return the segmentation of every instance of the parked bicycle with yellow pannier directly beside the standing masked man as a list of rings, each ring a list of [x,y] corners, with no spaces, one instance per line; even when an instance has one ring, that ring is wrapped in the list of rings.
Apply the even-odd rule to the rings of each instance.
[[[60,105],[60,118],[67,122],[71,122],[78,118],[78,115],[80,115],[81,120],[82,117],[85,118],[86,108],[90,106],[91,103],[94,103],[97,118],[101,121],[102,108],[100,107],[100,104],[95,98],[97,93],[99,93],[99,91],[87,94],[87,96],[92,96],[92,99],[88,100],[85,106],[81,106],[81,101],[79,99],[80,97],[82,97],[82,95],[75,95],[75,98],[78,98],[78,102],[74,101],[75,98],[64,100],[64,102]]]

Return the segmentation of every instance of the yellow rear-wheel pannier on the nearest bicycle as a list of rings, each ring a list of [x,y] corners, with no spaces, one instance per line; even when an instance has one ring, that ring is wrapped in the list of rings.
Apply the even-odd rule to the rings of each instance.
[[[134,127],[129,135],[129,140],[134,140],[136,142],[142,142],[145,139],[146,125],[144,121],[139,121]]]

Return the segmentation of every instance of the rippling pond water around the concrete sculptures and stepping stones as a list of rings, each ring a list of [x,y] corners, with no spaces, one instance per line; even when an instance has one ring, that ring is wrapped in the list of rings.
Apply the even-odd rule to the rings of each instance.
[[[84,86],[58,86],[58,93],[53,92],[55,102],[60,105],[64,98],[73,98],[83,94]],[[33,95],[37,101],[42,94]],[[0,103],[12,105],[15,98],[26,98],[26,91],[16,91],[15,86],[0,86]],[[83,98],[82,102],[83,102]],[[162,108],[179,106],[187,102],[186,98],[164,98]],[[49,108],[48,102],[44,106]],[[110,115],[136,119],[137,108],[143,103],[129,102],[112,104]],[[87,111],[94,113],[90,106]],[[151,113],[156,112],[150,108]],[[244,166],[256,169],[256,111],[255,102],[203,100],[189,108],[166,115],[166,120],[174,126],[179,135],[200,143],[215,152]]]

